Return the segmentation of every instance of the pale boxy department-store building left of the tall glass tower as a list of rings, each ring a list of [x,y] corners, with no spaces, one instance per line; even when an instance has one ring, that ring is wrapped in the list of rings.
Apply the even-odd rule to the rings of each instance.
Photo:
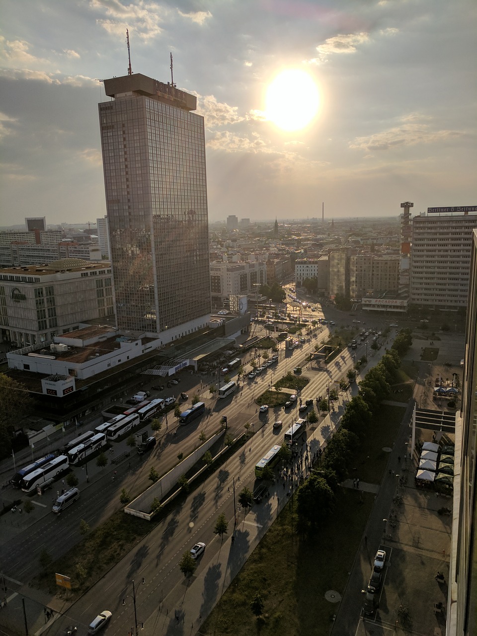
[[[114,314],[111,265],[62,259],[0,270],[0,333],[25,347]]]

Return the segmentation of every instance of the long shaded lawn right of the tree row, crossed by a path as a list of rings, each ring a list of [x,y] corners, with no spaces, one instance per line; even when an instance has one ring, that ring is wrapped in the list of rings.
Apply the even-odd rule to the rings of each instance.
[[[366,429],[350,466],[361,481],[380,483],[405,409],[382,405]],[[404,450],[403,450],[404,453]],[[354,472],[354,471],[353,471]],[[374,494],[340,488],[328,525],[313,536],[298,536],[292,504],[282,510],[265,537],[201,628],[204,636],[328,636],[336,605],[324,594],[345,590],[348,574],[373,508]],[[240,545],[239,536],[235,545]],[[273,564],[273,567],[272,567]],[[250,603],[256,591],[265,603],[258,622]]]

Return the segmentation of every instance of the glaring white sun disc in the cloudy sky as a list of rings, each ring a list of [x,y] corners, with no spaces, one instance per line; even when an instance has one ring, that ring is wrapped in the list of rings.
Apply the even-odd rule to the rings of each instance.
[[[266,91],[266,118],[283,130],[305,128],[320,106],[318,87],[305,71],[279,73]]]

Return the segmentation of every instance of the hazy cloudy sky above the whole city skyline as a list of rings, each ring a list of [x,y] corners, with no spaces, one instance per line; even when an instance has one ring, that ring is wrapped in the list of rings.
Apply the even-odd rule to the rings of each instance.
[[[134,73],[169,81],[172,52],[198,96],[211,221],[477,204],[476,25],[474,0],[3,0],[0,225],[106,214],[99,80],[127,74],[126,29]]]

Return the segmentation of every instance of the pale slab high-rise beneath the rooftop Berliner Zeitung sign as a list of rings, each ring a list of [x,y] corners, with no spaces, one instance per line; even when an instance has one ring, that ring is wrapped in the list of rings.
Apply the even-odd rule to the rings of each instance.
[[[443,309],[466,307],[477,216],[425,214],[411,226],[410,302]]]

